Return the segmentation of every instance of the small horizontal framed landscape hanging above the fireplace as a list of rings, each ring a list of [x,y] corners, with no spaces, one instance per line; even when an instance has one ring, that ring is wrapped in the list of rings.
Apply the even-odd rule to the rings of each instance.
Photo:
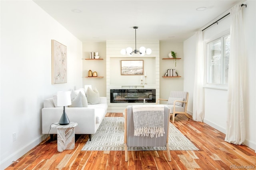
[[[143,60],[121,60],[121,75],[143,75]]]

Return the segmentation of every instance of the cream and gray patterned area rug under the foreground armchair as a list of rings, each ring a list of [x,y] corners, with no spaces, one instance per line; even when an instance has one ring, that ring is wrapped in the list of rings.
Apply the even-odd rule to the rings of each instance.
[[[198,150],[172,123],[169,126],[169,149]],[[124,118],[105,117],[82,150],[124,150]],[[166,150],[166,147],[128,147],[128,150]]]

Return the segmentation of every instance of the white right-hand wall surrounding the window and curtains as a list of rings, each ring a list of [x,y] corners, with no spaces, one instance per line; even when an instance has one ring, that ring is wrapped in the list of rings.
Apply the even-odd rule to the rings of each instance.
[[[245,68],[248,71],[247,78],[247,92],[245,101],[245,125],[246,125],[246,141],[244,144],[250,148],[256,149],[256,69],[255,69],[255,53],[256,53],[256,1],[248,0],[244,2],[247,4],[247,8],[242,7],[243,21],[244,21],[244,32],[246,40],[246,51],[247,51],[247,64]],[[228,13],[228,12],[226,12]],[[223,15],[222,15],[223,16]],[[220,18],[220,17],[219,17]],[[218,19],[218,18],[217,18]],[[212,21],[213,22],[213,21]],[[211,23],[212,23],[211,22]],[[208,25],[207,25],[208,26]],[[214,25],[204,33],[204,40],[210,40],[223,32],[226,32],[230,28],[230,16],[221,20],[218,25]],[[194,71],[190,71],[194,64],[189,62],[195,59],[195,50],[190,46],[195,46],[196,38],[192,36],[184,42],[184,74],[185,77],[194,77]],[[187,62],[188,61],[188,62]],[[189,66],[190,67],[187,67]],[[190,78],[184,78],[184,90],[189,89],[186,82]],[[191,81],[191,80],[190,80]],[[190,82],[191,86],[194,86],[194,82]],[[193,87],[194,88],[194,87]],[[192,91],[193,88],[190,88]],[[192,106],[189,107],[192,111]],[[205,88],[205,117],[204,122],[208,125],[220,130],[221,132],[226,131],[226,111],[227,111],[227,91],[223,89],[209,89]]]

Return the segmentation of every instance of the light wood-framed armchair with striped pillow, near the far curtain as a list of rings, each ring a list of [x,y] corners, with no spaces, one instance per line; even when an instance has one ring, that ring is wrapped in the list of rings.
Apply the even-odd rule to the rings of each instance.
[[[170,115],[172,116],[172,122],[174,122],[176,114],[184,114],[188,119],[190,117],[187,113],[188,107],[188,92],[186,91],[171,91],[169,99],[157,99],[156,104],[158,102],[167,101],[167,104],[164,104],[170,108]]]

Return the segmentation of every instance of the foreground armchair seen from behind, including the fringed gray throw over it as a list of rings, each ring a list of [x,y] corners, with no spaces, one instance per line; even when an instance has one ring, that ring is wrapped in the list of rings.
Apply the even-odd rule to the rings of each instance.
[[[140,106],[142,106],[143,108],[141,109]],[[168,161],[171,161],[171,155],[170,155],[170,150],[169,150],[169,146],[168,146],[168,136],[169,136],[168,134],[169,134],[169,124],[170,124],[169,108],[164,105],[162,105],[161,108],[160,108],[160,105],[136,105],[136,107],[133,107],[132,105],[130,105],[125,109],[125,112],[124,112],[124,117],[125,117],[125,119],[124,119],[125,161],[126,162],[128,161],[128,147],[143,147],[143,146],[145,146],[145,147],[148,147],[148,146],[164,146],[164,147],[166,147]],[[140,111],[138,111],[138,107],[139,107]],[[158,112],[159,108],[162,109],[160,113]],[[160,114],[160,115],[158,115],[158,114]],[[136,127],[138,127],[137,126],[138,123],[136,122],[136,120],[140,120],[140,122],[145,121],[148,124],[148,126],[144,126],[144,127],[151,127],[150,126],[151,122],[153,122],[153,124],[154,123],[157,124],[156,122],[158,122],[159,120],[162,120],[162,121],[160,121],[161,122],[160,124],[162,126],[159,126],[159,127],[164,127],[163,129],[164,129],[165,133],[161,134],[163,136],[161,136],[159,133],[155,134],[153,137],[150,136],[150,134],[148,136],[147,135],[142,136],[142,134],[141,134],[141,136],[140,135],[138,136],[138,134],[136,134],[136,129],[138,129],[138,128],[136,128]],[[156,127],[158,127],[158,126],[156,126]],[[153,131],[156,132],[157,129],[154,129]],[[142,130],[140,130],[139,133],[142,133]],[[149,131],[148,131],[148,133],[149,133]]]

